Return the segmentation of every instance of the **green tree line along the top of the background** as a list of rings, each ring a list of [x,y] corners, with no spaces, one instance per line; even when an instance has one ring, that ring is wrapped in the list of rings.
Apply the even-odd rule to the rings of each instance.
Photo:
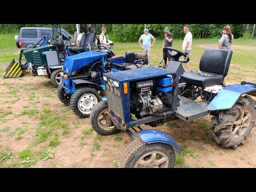
[[[146,28],[156,38],[163,38],[164,28],[169,27],[174,34],[174,38],[182,39],[185,34],[183,27],[187,24],[147,24]],[[234,38],[255,38],[255,24],[228,24]],[[102,26],[107,28],[106,35],[111,37],[111,40],[117,42],[137,42],[140,35],[143,34],[144,24],[98,24],[97,34],[101,33]],[[225,24],[190,24],[190,31],[193,38],[214,38],[220,37],[218,31],[222,30]],[[21,27],[51,27],[51,24],[0,24],[1,34],[17,33]],[[61,24],[61,28],[67,30],[70,34],[76,31],[75,24]]]

